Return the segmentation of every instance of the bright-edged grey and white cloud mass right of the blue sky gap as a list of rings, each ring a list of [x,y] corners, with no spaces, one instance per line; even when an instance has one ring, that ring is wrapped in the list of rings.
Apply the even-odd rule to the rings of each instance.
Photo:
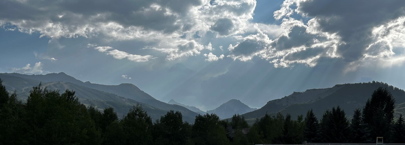
[[[401,0],[285,0],[274,12],[274,18],[281,21],[275,27],[281,35],[264,37],[266,28],[256,24],[250,32],[256,29],[258,33],[230,45],[228,57],[247,61],[259,56],[275,67],[294,63],[313,67],[322,59],[338,58],[353,67],[348,70],[371,59],[385,60],[381,63],[403,60],[405,55],[398,53],[403,52],[405,40],[404,8]]]

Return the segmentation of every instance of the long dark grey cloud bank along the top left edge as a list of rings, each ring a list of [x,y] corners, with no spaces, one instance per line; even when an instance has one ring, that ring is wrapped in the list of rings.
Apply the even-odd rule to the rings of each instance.
[[[124,27],[141,26],[171,33],[183,27],[175,22],[185,17],[192,6],[200,4],[201,0],[3,0],[0,17],[4,21],[26,20],[28,28],[44,25],[41,21],[77,27],[111,21]]]

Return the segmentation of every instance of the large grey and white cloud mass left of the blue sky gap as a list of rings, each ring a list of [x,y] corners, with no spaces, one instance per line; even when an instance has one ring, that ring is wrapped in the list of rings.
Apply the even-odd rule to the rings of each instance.
[[[41,37],[52,39],[97,37],[153,42],[157,45],[151,48],[167,53],[166,60],[173,60],[200,54],[203,45],[194,40],[196,33],[245,33],[255,6],[256,0],[12,0],[0,5],[0,26],[9,25],[7,29],[28,34],[39,32]],[[182,50],[191,46],[194,48]]]

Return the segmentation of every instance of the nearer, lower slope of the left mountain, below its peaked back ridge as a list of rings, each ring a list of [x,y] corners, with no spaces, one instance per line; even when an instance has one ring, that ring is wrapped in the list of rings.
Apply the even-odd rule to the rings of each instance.
[[[10,92],[14,90],[17,91],[18,97],[22,101],[26,100],[32,87],[38,86],[38,84],[40,83],[39,80],[21,78],[15,75],[10,76],[7,74],[0,74],[0,78],[3,80],[3,84],[4,86],[6,86],[7,90],[9,90]],[[118,116],[122,116],[128,113],[128,110],[137,103],[141,104],[144,107],[144,109],[153,118],[153,120],[160,118],[160,116],[166,114],[167,111],[170,110],[181,111],[181,113],[183,114],[183,119],[190,123],[194,122],[195,116],[198,115],[197,113],[179,105],[170,105],[165,103],[166,105],[154,106],[140,101],[135,101],[134,99],[120,97],[109,92],[77,85],[72,82],[43,82],[42,85],[50,90],[58,89],[60,90],[60,92],[63,92],[66,89],[74,90],[76,91],[76,95],[81,103],[84,103],[86,105],[94,105],[98,109],[104,109],[108,106],[114,107],[115,111],[117,111]]]

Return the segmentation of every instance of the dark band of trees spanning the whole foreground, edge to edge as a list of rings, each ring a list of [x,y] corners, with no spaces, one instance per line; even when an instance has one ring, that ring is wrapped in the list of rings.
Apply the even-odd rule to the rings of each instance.
[[[260,143],[405,143],[404,118],[394,117],[395,100],[378,88],[348,120],[339,106],[318,120],[312,110],[292,120],[287,114],[263,114],[249,126],[243,116],[228,122],[215,114],[183,122],[179,111],[152,120],[141,105],[119,117],[113,107],[97,109],[79,102],[73,90],[30,90],[25,103],[9,94],[0,80],[0,145],[252,145]]]

